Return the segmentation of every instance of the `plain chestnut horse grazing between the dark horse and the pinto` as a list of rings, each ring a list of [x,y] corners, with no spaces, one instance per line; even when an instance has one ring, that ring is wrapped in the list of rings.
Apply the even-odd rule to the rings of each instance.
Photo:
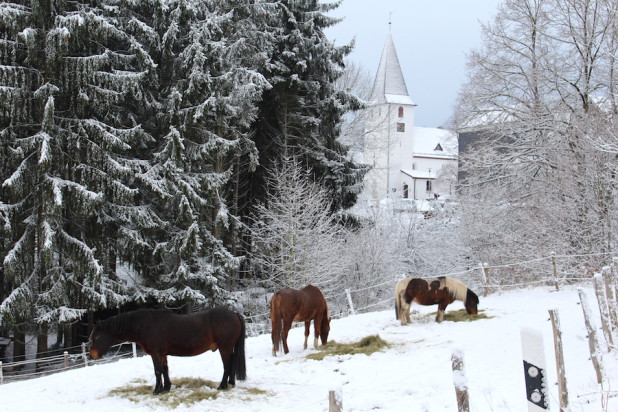
[[[328,341],[330,331],[330,318],[328,317],[328,305],[320,289],[309,285],[303,289],[281,289],[270,300],[270,321],[272,323],[271,337],[273,340],[273,356],[281,349],[288,353],[288,332],[292,322],[305,322],[305,346],[309,339],[309,325],[313,320],[315,339],[313,346],[318,347],[318,337],[322,345]]]

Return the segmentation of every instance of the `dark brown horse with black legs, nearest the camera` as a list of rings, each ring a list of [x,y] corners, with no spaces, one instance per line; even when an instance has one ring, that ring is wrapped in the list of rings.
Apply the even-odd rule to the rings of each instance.
[[[98,359],[111,345],[135,342],[152,357],[154,394],[169,391],[167,355],[195,356],[219,349],[223,379],[219,389],[245,380],[245,321],[225,308],[179,315],[165,310],[127,312],[97,323],[90,335],[90,356]],[[163,375],[163,382],[161,382]]]

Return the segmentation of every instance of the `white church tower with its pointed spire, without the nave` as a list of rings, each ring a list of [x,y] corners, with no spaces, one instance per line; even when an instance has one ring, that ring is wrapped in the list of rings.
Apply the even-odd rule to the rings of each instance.
[[[363,158],[372,166],[365,177],[366,200],[407,197],[399,175],[406,166],[402,154],[413,150],[414,106],[389,33],[365,119]]]

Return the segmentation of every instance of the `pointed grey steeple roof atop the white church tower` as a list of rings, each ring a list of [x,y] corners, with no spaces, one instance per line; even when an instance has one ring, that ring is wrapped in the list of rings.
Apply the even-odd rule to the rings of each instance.
[[[375,83],[373,84],[370,100],[374,104],[393,103],[414,105],[414,102],[408,94],[408,88],[403,79],[403,73],[401,72],[401,66],[399,65],[399,59],[395,51],[395,43],[393,43],[393,37],[390,33],[384,44],[384,50],[382,51],[382,58],[380,59],[380,65],[378,66],[378,73],[376,74]]]

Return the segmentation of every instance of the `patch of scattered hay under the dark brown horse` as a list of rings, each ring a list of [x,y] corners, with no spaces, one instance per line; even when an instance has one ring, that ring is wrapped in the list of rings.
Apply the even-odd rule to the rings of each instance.
[[[172,379],[172,389],[159,395],[153,395],[154,382],[147,383],[143,379],[135,380],[128,386],[116,388],[109,392],[110,396],[118,396],[134,403],[148,403],[166,406],[175,409],[180,405],[193,405],[205,400],[214,400],[221,394],[217,389],[218,382],[198,378]],[[254,396],[268,395],[267,391],[259,388],[233,388],[233,391],[242,391],[247,400]]]

